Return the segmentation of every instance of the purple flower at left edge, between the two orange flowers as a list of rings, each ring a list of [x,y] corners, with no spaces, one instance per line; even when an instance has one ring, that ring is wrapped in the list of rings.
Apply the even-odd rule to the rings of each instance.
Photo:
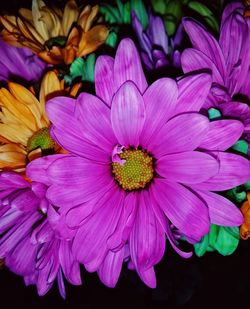
[[[28,48],[17,48],[0,40],[0,50],[0,81],[7,81],[12,77],[38,81],[47,67]]]

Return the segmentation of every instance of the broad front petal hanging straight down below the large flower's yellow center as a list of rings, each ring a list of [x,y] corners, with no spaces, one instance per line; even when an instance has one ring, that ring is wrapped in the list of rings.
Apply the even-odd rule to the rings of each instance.
[[[140,274],[161,260],[165,251],[165,233],[154,214],[147,191],[141,193],[139,203],[129,245],[131,260]]]

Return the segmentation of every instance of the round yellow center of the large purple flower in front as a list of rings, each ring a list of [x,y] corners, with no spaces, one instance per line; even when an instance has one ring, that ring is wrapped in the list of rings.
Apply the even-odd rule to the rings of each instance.
[[[112,172],[124,190],[137,190],[145,186],[154,177],[153,158],[145,151],[127,149],[120,154],[125,163],[112,163]]]

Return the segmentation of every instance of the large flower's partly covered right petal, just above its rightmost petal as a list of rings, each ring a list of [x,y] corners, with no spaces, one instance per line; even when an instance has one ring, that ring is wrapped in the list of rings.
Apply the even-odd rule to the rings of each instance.
[[[237,120],[218,120],[210,122],[208,134],[199,148],[224,151],[241,137],[244,126]]]

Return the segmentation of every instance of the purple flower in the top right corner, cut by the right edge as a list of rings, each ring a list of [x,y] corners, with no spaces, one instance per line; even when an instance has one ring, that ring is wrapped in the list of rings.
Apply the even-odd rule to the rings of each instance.
[[[201,24],[183,19],[193,48],[184,50],[181,64],[185,73],[204,68],[212,71],[212,88],[205,109],[218,108],[224,117],[240,119],[250,133],[250,22],[243,17],[240,2],[226,6],[217,41]]]

